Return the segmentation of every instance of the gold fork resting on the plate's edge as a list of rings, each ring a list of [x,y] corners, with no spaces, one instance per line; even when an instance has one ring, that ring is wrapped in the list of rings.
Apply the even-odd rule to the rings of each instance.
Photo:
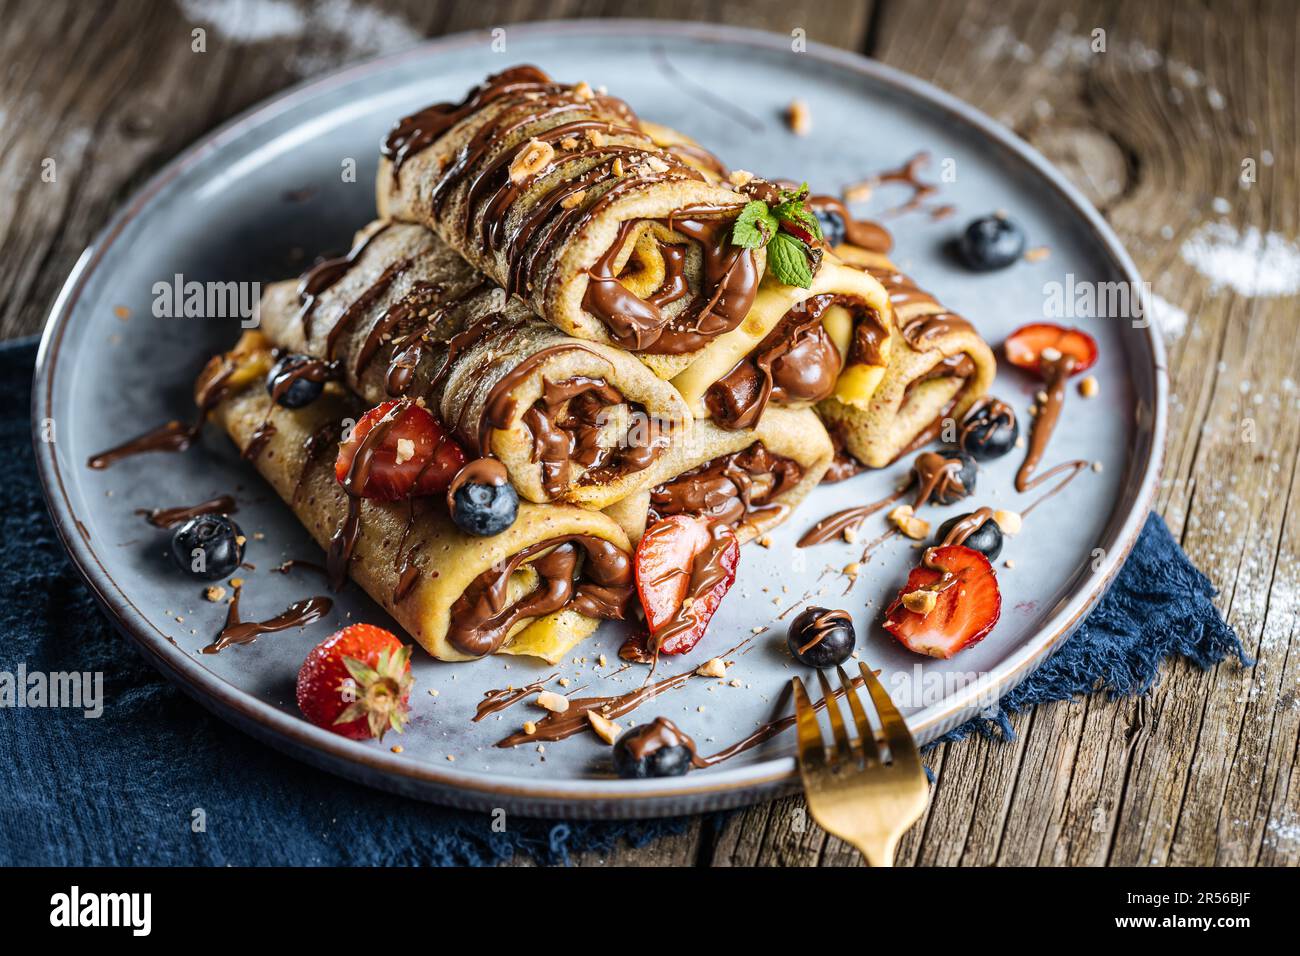
[[[822,701],[831,715],[835,747],[827,749],[818,726],[816,711],[803,682],[794,678],[794,715],[800,740],[800,775],[809,810],[823,830],[852,843],[872,866],[893,866],[894,848],[907,827],[920,819],[930,797],[930,783],[920,765],[916,741],[911,739],[898,708],[867,665],[859,665],[880,717],[888,758],[858,700],[854,683],[840,672],[844,696],[858,724],[858,743],[849,740],[840,705],[831,682],[822,671]]]

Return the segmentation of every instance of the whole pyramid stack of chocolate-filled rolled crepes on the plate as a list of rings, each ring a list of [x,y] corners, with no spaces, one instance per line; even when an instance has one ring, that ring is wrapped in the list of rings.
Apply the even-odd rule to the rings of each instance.
[[[892,304],[883,258],[828,252],[811,289],[764,274],[762,248],[731,243],[755,193],[585,83],[507,70],[402,120],[384,156],[382,219],[272,285],[205,381],[221,373],[212,416],[332,562],[434,657],[558,659],[634,614],[649,524],[701,515],[746,541],[785,520],[836,454],[818,412],[884,464],[992,377],[952,317],[897,323],[913,303]],[[260,386],[289,352],[332,380],[304,408]],[[504,466],[510,529],[342,489],[338,424],[393,398]]]

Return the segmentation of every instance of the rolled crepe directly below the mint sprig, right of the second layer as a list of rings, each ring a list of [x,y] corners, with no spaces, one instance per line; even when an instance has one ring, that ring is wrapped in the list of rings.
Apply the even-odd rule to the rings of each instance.
[[[870,395],[892,349],[884,287],[827,254],[810,289],[766,276],[745,321],[672,380],[698,418],[753,428],[774,407]]]

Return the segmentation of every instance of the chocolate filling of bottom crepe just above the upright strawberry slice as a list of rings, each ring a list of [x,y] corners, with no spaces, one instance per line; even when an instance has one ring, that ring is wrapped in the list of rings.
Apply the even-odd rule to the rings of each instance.
[[[650,492],[649,522],[690,514],[734,527],[781,507],[775,499],[803,477],[800,463],[768,451],[757,441],[748,449],[706,462]]]

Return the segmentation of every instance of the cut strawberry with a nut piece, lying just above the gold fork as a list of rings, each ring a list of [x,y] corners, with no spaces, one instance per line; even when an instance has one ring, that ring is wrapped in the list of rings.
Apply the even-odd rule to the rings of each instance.
[[[952,584],[935,591],[935,606],[928,613],[909,610],[926,600],[927,589],[942,580]],[[920,592],[918,598],[911,597]],[[962,648],[984,639],[1002,613],[1002,592],[988,558],[974,548],[952,545],[931,548],[920,567],[907,575],[907,584],[885,610],[885,630],[907,650],[949,658]]]

